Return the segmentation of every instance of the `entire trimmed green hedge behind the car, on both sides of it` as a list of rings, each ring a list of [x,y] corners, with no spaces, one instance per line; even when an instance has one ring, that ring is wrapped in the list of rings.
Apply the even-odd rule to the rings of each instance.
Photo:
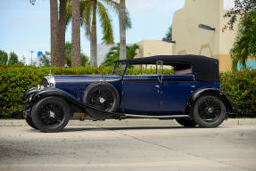
[[[22,118],[24,102],[21,98],[27,89],[41,85],[42,78],[48,75],[111,74],[108,67],[81,68],[36,68],[0,67],[0,118]],[[140,73],[132,69],[134,74]],[[167,71],[164,71],[167,72]],[[256,117],[256,70],[238,71],[235,74],[220,74],[221,90],[235,106],[235,117]]]

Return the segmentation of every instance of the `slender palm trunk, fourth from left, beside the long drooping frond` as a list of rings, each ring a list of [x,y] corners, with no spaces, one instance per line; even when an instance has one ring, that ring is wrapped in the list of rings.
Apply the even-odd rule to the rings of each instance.
[[[94,1],[93,9],[93,21],[91,28],[91,66],[97,66],[97,25],[96,25],[96,4],[97,1]]]

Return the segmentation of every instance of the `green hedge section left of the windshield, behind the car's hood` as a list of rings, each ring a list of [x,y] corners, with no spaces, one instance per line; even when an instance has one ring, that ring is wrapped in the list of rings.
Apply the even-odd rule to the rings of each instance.
[[[108,67],[0,67],[0,118],[22,118],[23,93],[33,86],[42,85],[42,78],[50,70],[53,75],[111,74]]]

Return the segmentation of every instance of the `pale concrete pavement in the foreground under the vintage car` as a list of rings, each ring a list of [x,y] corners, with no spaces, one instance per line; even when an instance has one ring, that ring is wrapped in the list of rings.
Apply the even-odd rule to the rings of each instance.
[[[256,170],[256,126],[1,126],[0,170]]]

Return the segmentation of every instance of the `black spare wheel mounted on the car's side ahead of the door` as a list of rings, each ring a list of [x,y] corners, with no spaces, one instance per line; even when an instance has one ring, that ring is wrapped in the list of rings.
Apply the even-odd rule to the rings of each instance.
[[[120,106],[120,94],[114,85],[106,82],[97,82],[87,86],[83,102],[93,108],[108,112],[115,112]],[[97,120],[111,118],[113,115],[106,112],[97,112],[87,108],[87,114]]]

